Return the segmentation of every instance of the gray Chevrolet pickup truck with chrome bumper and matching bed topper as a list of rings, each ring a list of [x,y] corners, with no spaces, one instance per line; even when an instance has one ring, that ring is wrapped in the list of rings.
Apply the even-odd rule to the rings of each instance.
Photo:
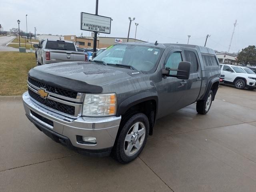
[[[54,141],[91,156],[134,160],[156,120],[196,102],[206,114],[220,81],[212,49],[123,43],[91,62],[55,63],[28,73],[28,119]]]

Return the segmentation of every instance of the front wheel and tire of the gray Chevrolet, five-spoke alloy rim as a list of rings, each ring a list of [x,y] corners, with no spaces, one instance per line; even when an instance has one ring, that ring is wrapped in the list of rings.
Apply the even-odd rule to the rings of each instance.
[[[134,160],[146,144],[149,133],[148,117],[143,113],[132,115],[120,129],[111,156],[125,164]]]

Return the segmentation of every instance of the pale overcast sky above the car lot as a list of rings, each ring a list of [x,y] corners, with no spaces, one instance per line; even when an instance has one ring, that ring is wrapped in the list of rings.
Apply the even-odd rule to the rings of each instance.
[[[0,0],[0,24],[5,31],[18,28],[39,34],[88,36],[80,30],[80,12],[95,14],[96,0]],[[130,38],[158,43],[180,43],[230,52],[256,45],[256,0],[99,0],[98,15],[111,17],[111,34],[100,36],[127,38],[129,20],[135,17]]]

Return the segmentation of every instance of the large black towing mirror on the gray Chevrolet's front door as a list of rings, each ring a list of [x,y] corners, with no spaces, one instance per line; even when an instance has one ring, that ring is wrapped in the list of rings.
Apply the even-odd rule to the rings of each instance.
[[[181,61],[179,63],[178,69],[171,69],[170,67],[166,67],[166,69],[162,69],[162,74],[168,77],[177,77],[178,79],[189,79],[190,67],[191,67],[190,62]],[[177,74],[170,75],[170,71],[177,71]]]

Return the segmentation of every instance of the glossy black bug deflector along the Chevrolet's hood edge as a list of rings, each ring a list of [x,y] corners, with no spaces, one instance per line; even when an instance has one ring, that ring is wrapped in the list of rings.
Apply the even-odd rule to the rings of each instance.
[[[102,87],[98,85],[90,85],[83,81],[60,77],[49,73],[44,73],[36,69],[30,69],[28,76],[36,81],[40,81],[47,85],[65,89],[67,91],[75,91],[79,93],[101,93]]]

